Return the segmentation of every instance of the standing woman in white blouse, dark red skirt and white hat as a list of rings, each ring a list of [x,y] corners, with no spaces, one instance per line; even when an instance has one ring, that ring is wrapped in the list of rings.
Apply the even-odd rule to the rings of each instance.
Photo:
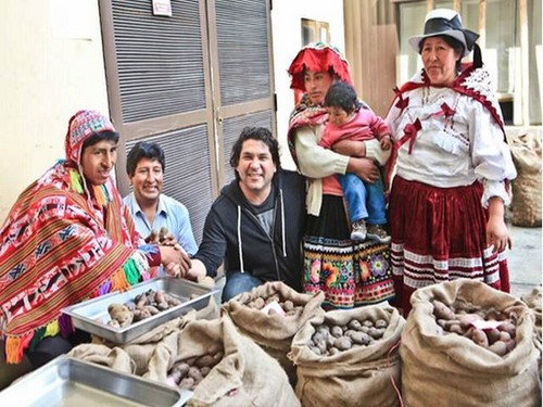
[[[409,39],[424,69],[396,90],[387,116],[396,150],[392,272],[405,316],[411,294],[432,283],[469,278],[509,291],[504,205],[516,170],[477,38],[455,11],[428,13],[425,34]]]

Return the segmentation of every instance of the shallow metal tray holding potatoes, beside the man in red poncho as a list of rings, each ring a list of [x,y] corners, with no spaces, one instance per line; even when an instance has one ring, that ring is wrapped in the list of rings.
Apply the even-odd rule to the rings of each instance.
[[[164,290],[181,301],[181,304],[153,315],[150,318],[134,322],[128,327],[113,328],[108,326],[111,320],[108,306],[112,303],[125,304],[138,294],[148,290]],[[125,344],[149,332],[168,320],[187,314],[192,309],[202,309],[207,306],[210,298],[217,290],[211,290],[188,280],[171,277],[159,277],[134,285],[123,293],[111,293],[83,303],[72,305],[62,310],[72,317],[72,325],[83,331],[96,334],[116,344]],[[194,300],[190,296],[195,294]]]

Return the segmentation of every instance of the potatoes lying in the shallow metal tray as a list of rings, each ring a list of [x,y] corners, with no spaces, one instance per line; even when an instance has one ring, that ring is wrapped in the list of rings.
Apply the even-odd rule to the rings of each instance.
[[[112,303],[108,306],[111,320],[108,326],[113,328],[128,327],[132,322],[150,318],[166,309],[173,308],[181,302],[163,290],[148,290],[136,295],[125,304]]]

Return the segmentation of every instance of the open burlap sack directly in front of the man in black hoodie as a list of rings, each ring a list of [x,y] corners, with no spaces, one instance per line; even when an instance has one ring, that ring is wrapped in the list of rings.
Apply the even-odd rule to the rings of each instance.
[[[281,301],[290,300],[294,305],[303,307],[302,313],[281,317],[268,315],[260,309],[250,308],[247,304],[258,297],[267,298],[278,294]],[[242,293],[223,305],[238,329],[256,342],[268,355],[282,366],[292,384],[295,383],[295,367],[287,357],[292,338],[302,326],[317,314],[323,314],[320,305],[324,293],[301,294],[281,281],[270,281]]]

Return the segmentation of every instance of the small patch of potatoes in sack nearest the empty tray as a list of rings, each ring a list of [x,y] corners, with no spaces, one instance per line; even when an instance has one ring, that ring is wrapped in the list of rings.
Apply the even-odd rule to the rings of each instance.
[[[212,352],[200,357],[179,360],[172,366],[166,382],[181,390],[194,390],[210,373],[211,369],[223,360],[224,352]]]

